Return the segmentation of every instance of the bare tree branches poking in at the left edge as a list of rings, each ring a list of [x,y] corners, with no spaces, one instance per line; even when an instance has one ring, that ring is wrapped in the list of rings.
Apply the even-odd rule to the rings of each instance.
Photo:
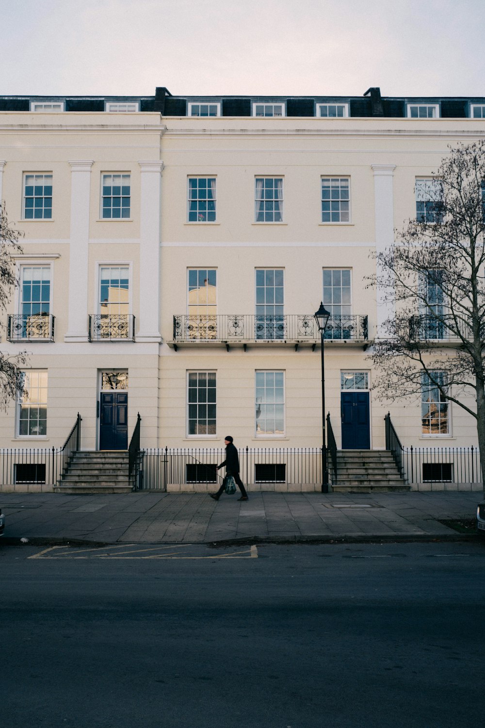
[[[12,291],[18,285],[17,270],[12,256],[22,253],[19,245],[21,233],[9,226],[5,203],[0,205],[0,309],[7,310]],[[26,352],[7,355],[0,352],[0,408],[7,410],[12,399],[23,393],[23,373],[20,369],[27,361]]]

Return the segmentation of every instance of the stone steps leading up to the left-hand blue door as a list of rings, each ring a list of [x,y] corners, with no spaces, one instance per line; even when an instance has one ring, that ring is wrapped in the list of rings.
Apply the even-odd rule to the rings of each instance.
[[[128,451],[77,452],[56,493],[129,493]]]

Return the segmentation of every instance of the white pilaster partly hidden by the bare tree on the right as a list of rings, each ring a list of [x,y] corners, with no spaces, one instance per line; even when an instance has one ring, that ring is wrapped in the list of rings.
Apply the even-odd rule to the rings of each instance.
[[[396,165],[372,165],[374,173],[374,202],[375,202],[375,244],[377,253],[382,252],[394,244],[394,197],[393,173]],[[379,261],[377,261],[377,277],[382,274]],[[388,336],[384,331],[383,323],[393,315],[394,305],[391,301],[385,302],[389,290],[377,286],[377,339]]]

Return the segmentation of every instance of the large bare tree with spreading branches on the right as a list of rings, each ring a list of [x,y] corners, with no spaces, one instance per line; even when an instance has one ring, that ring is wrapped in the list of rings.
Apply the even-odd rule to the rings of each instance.
[[[379,397],[428,392],[430,434],[449,402],[476,419],[485,488],[485,141],[449,150],[417,182],[417,219],[375,256],[371,285],[393,314],[370,356]]]

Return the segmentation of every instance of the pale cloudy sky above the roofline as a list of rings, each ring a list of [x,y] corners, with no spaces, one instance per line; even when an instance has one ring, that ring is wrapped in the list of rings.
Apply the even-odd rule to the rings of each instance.
[[[485,96],[484,0],[0,0],[0,95]]]

